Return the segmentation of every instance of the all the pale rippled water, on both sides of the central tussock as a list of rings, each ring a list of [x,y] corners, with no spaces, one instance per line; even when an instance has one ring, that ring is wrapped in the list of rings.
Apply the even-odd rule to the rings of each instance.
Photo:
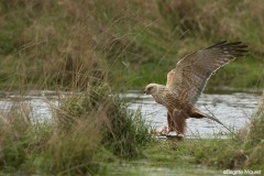
[[[45,95],[45,96],[43,96]],[[69,95],[69,92],[64,94]],[[33,110],[32,117],[38,122],[51,120],[51,106],[58,106],[57,96],[54,91],[36,91],[28,96],[18,96],[15,94],[0,92],[0,110],[11,108],[15,100],[22,100]],[[132,110],[141,109],[143,117],[154,128],[166,124],[166,108],[157,105],[151,96],[143,96],[139,91],[130,91],[120,95],[130,99],[129,108]],[[210,114],[213,113],[220,121],[231,129],[240,129],[249,122],[252,113],[255,112],[261,96],[253,94],[229,94],[229,95],[207,95],[204,94],[197,102],[197,107]],[[201,138],[210,138],[227,131],[220,124],[207,119],[188,119],[187,136],[200,135]]]

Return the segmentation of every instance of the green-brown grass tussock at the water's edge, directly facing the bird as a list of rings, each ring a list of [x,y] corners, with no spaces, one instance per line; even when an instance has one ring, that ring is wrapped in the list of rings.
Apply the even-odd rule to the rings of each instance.
[[[59,112],[57,117],[58,124],[63,127],[58,128],[70,132],[69,125],[78,123],[79,120],[97,120],[105,146],[118,156],[135,157],[141,153],[140,147],[151,140],[150,127],[145,124],[140,112],[129,111],[120,98],[108,96],[110,92],[106,94],[103,89],[66,99],[62,103],[63,114]]]

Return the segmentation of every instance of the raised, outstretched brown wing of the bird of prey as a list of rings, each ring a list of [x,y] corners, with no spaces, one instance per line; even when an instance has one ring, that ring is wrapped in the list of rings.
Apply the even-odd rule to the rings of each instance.
[[[246,45],[241,42],[217,43],[182,58],[167,74],[166,87],[190,105],[196,103],[209,77],[230,61],[242,56]]]

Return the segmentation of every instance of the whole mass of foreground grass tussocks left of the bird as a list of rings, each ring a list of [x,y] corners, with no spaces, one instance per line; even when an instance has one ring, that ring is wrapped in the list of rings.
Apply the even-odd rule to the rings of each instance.
[[[108,89],[95,87],[63,98],[54,109],[53,123],[34,124],[30,109],[12,108],[1,118],[3,170],[90,175],[105,162],[142,155],[142,147],[151,141],[148,127]]]

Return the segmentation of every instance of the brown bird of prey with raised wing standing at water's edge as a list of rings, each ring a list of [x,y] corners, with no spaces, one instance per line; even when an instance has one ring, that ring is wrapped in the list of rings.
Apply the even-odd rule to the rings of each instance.
[[[144,92],[152,95],[157,103],[167,108],[168,132],[184,135],[187,118],[207,118],[222,124],[218,119],[198,110],[195,105],[207,80],[217,69],[242,56],[246,45],[241,42],[217,43],[182,58],[176,68],[167,74],[166,85],[150,84]],[[223,125],[223,124],[222,124]]]

